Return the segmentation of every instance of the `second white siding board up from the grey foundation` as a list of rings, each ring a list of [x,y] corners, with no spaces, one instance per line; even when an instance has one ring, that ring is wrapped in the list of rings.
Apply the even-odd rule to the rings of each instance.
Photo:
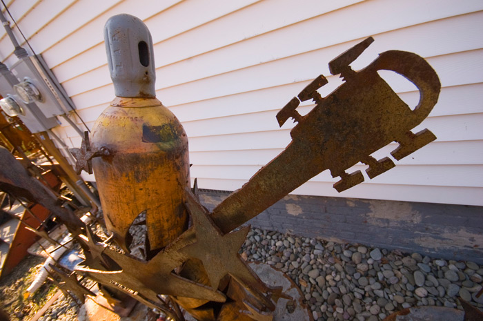
[[[483,165],[400,165],[384,175],[368,179],[366,165],[355,165],[348,170],[362,171],[367,184],[424,185],[424,186],[469,186],[483,187]],[[193,164],[190,169],[193,177],[217,179],[250,179],[260,166],[199,166]],[[297,168],[287,168],[297,171]],[[311,179],[312,182],[337,182],[330,171],[324,171]],[[201,187],[201,186],[200,186]]]

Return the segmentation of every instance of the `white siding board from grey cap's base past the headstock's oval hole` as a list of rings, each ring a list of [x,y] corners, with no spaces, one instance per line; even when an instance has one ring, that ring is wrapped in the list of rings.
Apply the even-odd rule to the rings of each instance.
[[[483,82],[482,54],[483,50],[472,50],[432,57],[427,60],[439,75],[442,86],[458,86]],[[314,79],[319,74],[318,70],[313,70],[313,66],[319,64],[317,58],[317,55],[314,55],[313,52],[308,52],[301,57],[290,57],[180,86],[165,88],[161,90],[161,97],[168,106],[172,106],[186,104],[188,101],[199,101],[297,81],[306,81]],[[399,76],[399,78],[392,84],[396,93],[413,90],[413,84],[402,80],[403,77]],[[341,84],[338,76],[330,76],[327,79],[329,83],[319,90],[323,95],[330,93],[331,90]]]

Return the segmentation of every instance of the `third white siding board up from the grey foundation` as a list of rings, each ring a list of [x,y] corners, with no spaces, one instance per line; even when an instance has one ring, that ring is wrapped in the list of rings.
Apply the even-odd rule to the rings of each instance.
[[[373,154],[380,159],[390,155],[397,144],[389,144]],[[194,165],[264,166],[282,153],[282,148],[259,150],[190,151]],[[408,157],[395,161],[397,165],[480,165],[483,159],[483,140],[469,142],[432,142]]]

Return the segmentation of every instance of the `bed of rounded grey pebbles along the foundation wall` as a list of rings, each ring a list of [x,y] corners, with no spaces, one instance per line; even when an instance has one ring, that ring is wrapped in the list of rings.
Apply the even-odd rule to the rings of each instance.
[[[140,229],[140,228],[139,228]],[[137,234],[137,233],[136,233]],[[141,234],[141,233],[140,233]],[[315,320],[382,320],[407,307],[461,309],[457,296],[483,309],[483,266],[419,253],[338,244],[252,228],[240,251],[287,273]],[[77,305],[59,298],[40,321],[74,321]]]

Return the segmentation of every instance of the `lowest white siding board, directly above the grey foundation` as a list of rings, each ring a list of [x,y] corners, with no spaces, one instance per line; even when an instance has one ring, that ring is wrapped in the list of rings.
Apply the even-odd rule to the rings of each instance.
[[[192,181],[194,179],[193,175]],[[243,179],[198,179],[199,188],[219,191],[235,191],[246,181]],[[193,184],[193,183],[192,183]],[[307,182],[293,191],[298,195],[328,197],[353,197],[369,200],[395,200],[441,204],[466,204],[483,206],[483,188],[448,186],[397,186],[384,184],[359,184],[342,193],[337,193],[332,183]]]

